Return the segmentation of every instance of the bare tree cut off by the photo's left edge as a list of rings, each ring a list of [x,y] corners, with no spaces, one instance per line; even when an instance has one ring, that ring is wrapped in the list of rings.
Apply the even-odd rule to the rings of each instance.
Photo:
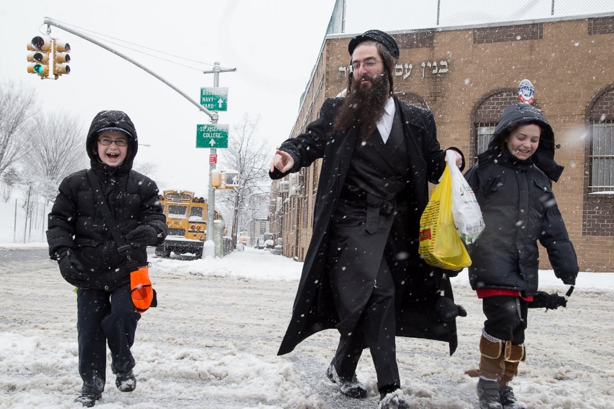
[[[12,81],[0,84],[0,175],[25,155],[20,142],[35,108],[34,88]]]

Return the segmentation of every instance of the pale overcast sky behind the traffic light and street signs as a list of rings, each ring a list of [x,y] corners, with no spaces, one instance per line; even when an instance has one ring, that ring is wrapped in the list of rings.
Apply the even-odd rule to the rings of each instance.
[[[139,149],[137,162],[166,162],[157,172],[165,185],[160,187],[200,191],[206,189],[209,149],[196,149],[196,125],[211,123],[208,115],[139,67],[55,27],[51,35],[71,45],[71,73],[59,80],[40,80],[28,74],[26,44],[45,32],[44,17],[207,63],[177,59],[192,67],[211,69],[218,61],[223,67],[236,68],[236,72],[219,77],[219,86],[228,87],[228,111],[220,112],[218,123],[233,126],[246,113],[259,115],[258,134],[274,148],[289,137],[297,118],[300,97],[319,55],[334,3],[2,1],[0,74],[2,81],[11,79],[36,87],[45,110],[78,115],[86,127],[99,110],[124,110],[136,125],[139,142],[151,145]],[[109,45],[147,64],[195,101],[199,101],[201,87],[214,85],[213,74]],[[181,153],[181,159],[173,158],[172,154]],[[223,163],[217,167],[222,169]],[[190,170],[190,175],[182,169]]]

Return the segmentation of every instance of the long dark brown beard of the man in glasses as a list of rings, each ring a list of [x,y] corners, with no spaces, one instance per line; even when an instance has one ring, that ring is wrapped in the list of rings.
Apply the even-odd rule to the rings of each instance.
[[[360,90],[360,81],[371,79],[371,88]],[[384,115],[384,107],[389,97],[389,80],[383,74],[369,77],[367,74],[354,80],[352,91],[346,95],[333,123],[333,132],[349,130],[352,126],[360,127],[360,137],[367,138],[375,131],[377,121]]]

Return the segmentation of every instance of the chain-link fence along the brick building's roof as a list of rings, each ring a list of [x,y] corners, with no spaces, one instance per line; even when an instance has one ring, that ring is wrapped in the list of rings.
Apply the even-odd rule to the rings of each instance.
[[[613,12],[613,0],[337,0],[327,34],[357,34],[373,28],[410,31]]]

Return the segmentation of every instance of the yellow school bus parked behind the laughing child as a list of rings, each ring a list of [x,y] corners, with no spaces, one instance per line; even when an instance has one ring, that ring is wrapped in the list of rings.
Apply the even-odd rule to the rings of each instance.
[[[207,202],[192,191],[165,190],[160,195],[160,204],[166,215],[168,235],[155,248],[155,254],[170,257],[175,254],[193,253],[203,256],[203,243],[207,237]],[[216,213],[216,218],[219,214]]]

